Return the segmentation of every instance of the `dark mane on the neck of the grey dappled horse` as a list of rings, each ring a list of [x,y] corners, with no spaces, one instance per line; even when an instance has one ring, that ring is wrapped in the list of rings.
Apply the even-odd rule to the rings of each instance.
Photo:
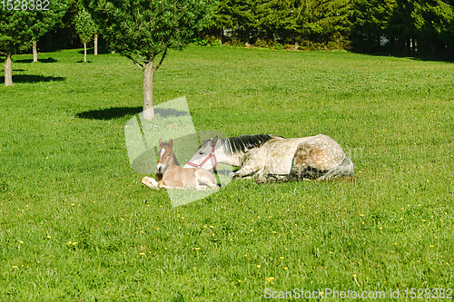
[[[279,135],[272,134],[254,134],[254,135],[242,135],[242,136],[233,136],[227,139],[221,140],[222,149],[226,154],[245,153],[252,148],[260,147],[266,141],[271,139],[282,138]]]

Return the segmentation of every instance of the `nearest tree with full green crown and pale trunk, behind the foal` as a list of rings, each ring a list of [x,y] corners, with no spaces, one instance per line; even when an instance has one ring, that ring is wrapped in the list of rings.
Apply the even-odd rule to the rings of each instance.
[[[153,119],[154,73],[168,49],[182,49],[202,30],[217,1],[83,1],[111,42],[111,49],[131,59],[142,70],[144,118]],[[159,55],[161,59],[155,63]]]

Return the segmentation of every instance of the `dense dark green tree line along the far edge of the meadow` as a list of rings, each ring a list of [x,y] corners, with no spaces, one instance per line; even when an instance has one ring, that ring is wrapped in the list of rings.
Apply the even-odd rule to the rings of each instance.
[[[82,46],[75,30],[79,2],[68,1],[66,14],[40,38],[41,51]],[[199,41],[453,54],[454,0],[220,0]]]

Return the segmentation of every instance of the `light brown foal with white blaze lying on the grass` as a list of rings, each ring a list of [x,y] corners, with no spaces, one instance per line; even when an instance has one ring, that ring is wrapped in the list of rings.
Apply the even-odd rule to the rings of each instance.
[[[196,190],[212,189],[216,186],[216,179],[208,170],[203,168],[183,168],[178,164],[173,154],[173,140],[163,143],[159,139],[159,161],[157,165],[156,179],[144,177],[142,183],[150,189],[162,188],[195,188]]]

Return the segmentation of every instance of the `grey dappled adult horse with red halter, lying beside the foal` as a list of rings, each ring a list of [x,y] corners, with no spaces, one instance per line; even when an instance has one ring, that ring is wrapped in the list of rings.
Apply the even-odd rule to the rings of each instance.
[[[225,163],[240,170],[232,178],[252,177],[257,182],[332,180],[353,176],[353,162],[331,137],[319,134],[285,139],[271,134],[214,137],[202,145],[185,168],[216,169]]]

